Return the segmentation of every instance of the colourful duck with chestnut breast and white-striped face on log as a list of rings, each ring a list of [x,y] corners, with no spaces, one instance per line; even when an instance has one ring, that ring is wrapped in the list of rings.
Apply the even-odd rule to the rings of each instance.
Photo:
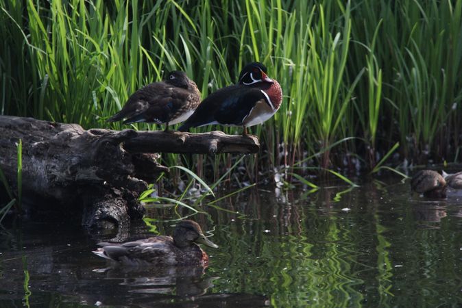
[[[210,94],[191,117],[179,128],[210,124],[247,127],[261,124],[275,114],[282,102],[278,81],[267,76],[267,68],[258,62],[247,64],[236,85],[221,88]]]

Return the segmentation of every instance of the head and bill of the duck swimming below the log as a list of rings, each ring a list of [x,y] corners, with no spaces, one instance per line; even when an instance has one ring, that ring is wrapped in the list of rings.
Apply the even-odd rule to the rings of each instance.
[[[178,247],[186,247],[198,243],[218,248],[217,244],[207,240],[199,224],[193,222],[193,220],[182,220],[176,225],[175,231],[173,231],[173,242]]]

